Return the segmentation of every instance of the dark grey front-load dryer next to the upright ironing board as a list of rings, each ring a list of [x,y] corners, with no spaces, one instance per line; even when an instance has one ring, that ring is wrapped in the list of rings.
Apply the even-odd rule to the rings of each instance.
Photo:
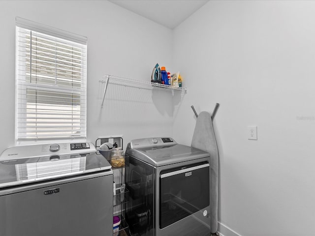
[[[126,221],[135,236],[210,235],[210,154],[172,138],[126,148]]]

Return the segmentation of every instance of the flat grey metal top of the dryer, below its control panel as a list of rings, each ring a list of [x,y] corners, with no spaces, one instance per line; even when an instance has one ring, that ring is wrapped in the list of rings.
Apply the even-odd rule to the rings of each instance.
[[[180,144],[129,148],[126,154],[156,167],[210,156],[208,152]]]

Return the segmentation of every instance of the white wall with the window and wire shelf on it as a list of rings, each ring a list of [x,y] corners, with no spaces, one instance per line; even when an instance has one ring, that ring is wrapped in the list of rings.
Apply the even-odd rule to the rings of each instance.
[[[16,16],[88,37],[88,141],[123,134],[126,146],[134,138],[172,136],[172,93],[110,84],[101,109],[99,83],[104,74],[149,81],[157,62],[171,67],[170,29],[109,1],[4,0],[0,9],[0,152],[14,146]]]

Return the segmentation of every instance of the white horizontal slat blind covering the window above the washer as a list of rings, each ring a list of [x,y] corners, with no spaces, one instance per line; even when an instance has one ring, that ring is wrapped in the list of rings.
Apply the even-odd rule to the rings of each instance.
[[[87,45],[73,35],[17,19],[17,141],[86,138]]]

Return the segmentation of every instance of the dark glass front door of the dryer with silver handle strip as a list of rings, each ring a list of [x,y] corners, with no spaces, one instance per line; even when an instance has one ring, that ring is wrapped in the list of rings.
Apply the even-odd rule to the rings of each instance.
[[[210,205],[208,163],[160,173],[159,227],[165,228]]]

